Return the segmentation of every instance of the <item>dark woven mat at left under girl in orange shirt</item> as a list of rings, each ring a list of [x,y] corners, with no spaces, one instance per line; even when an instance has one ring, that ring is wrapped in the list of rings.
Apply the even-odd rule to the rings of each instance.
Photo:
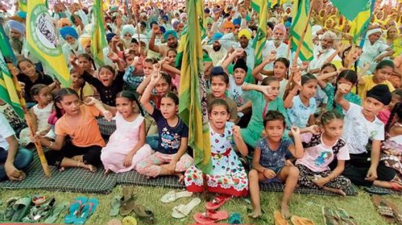
[[[116,185],[117,176],[111,174],[105,177],[104,168],[97,168],[95,173],[82,168],[67,168],[59,172],[50,166],[51,176],[46,178],[39,157],[34,153],[34,161],[26,169],[27,178],[21,182],[9,180],[0,182],[0,189],[45,189],[49,191],[72,191],[82,193],[110,193]]]

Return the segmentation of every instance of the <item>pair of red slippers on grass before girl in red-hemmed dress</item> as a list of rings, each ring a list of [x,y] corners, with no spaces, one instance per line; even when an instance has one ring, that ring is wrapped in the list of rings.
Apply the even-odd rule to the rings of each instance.
[[[206,212],[197,212],[194,214],[194,220],[200,224],[213,224],[215,222],[227,219],[229,214],[226,210],[217,211],[225,202],[232,199],[230,195],[218,195],[211,202],[207,202]]]

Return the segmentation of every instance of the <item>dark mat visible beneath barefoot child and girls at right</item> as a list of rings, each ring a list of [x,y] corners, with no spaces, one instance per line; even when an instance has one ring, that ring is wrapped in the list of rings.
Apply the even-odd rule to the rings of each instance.
[[[282,183],[260,184],[260,189],[263,191],[282,192],[283,187],[284,185]],[[358,188],[355,185],[351,185],[349,189],[345,190],[346,195],[357,195],[357,192]],[[339,196],[338,194],[335,194],[330,191],[317,190],[305,187],[297,187],[296,189],[294,189],[294,193]]]

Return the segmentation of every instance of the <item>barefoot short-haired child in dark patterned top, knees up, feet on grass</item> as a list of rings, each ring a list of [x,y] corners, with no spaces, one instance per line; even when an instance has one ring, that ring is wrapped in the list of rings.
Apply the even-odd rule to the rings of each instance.
[[[253,218],[261,216],[259,182],[285,183],[281,201],[283,218],[289,217],[288,203],[297,184],[298,169],[285,164],[285,154],[289,151],[295,158],[303,157],[303,145],[300,131],[297,127],[290,129],[294,145],[288,138],[283,137],[285,117],[279,111],[268,111],[264,118],[266,137],[261,138],[254,150],[253,169],[249,172],[250,197],[254,211]]]

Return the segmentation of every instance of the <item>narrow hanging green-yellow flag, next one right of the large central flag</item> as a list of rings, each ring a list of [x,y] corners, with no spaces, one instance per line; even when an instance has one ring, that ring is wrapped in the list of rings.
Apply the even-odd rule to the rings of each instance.
[[[254,65],[259,65],[262,62],[262,50],[267,41],[268,0],[252,0],[251,7],[258,13],[258,30],[253,41],[253,48],[255,54]]]

